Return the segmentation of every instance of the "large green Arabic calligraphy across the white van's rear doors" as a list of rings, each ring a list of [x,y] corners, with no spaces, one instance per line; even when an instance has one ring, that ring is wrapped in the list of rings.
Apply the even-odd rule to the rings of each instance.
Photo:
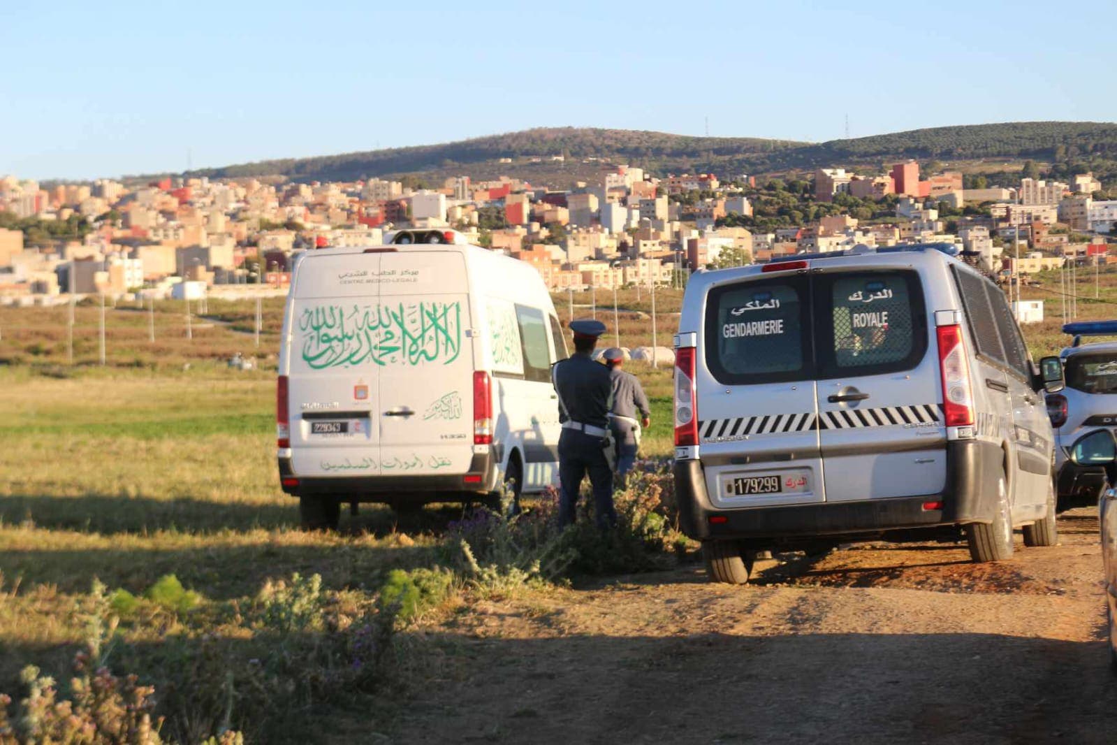
[[[318,305],[298,317],[303,361],[315,370],[450,364],[461,353],[460,303]]]

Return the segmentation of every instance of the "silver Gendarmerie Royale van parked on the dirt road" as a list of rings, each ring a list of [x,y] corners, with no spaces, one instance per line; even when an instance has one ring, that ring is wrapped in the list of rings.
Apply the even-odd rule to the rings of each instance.
[[[1004,293],[946,245],[696,273],[676,336],[676,497],[710,576],[757,551],[965,534],[1053,545],[1052,434]]]

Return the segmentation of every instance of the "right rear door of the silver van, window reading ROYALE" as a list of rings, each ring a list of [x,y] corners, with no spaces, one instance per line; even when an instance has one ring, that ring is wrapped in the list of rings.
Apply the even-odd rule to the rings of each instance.
[[[919,274],[821,271],[813,283],[827,502],[941,493],[946,430]]]

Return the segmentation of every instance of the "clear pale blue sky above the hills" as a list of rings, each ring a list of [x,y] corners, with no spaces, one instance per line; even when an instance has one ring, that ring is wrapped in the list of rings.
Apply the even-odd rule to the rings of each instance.
[[[385,9],[390,6],[390,9]],[[532,126],[824,141],[1117,121],[1117,3],[22,2],[0,174],[95,178]],[[1060,30],[1062,29],[1062,30]],[[1049,31],[1051,32],[1048,36]]]

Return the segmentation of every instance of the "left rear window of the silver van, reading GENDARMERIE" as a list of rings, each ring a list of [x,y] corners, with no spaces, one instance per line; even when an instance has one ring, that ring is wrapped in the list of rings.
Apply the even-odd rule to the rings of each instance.
[[[808,283],[750,281],[710,292],[707,364],[723,382],[801,380],[808,374]]]

